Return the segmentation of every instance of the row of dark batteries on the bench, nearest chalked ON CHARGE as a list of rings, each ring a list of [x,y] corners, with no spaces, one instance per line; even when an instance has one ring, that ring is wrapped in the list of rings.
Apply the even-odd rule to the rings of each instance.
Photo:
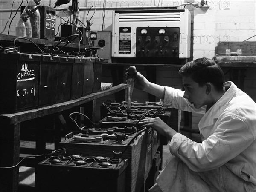
[[[0,54],[0,114],[73,100],[101,88],[102,59]]]

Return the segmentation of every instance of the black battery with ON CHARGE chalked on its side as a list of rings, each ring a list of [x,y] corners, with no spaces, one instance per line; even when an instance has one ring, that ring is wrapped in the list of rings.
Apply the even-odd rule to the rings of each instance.
[[[0,113],[36,108],[40,55],[10,53],[0,56]]]

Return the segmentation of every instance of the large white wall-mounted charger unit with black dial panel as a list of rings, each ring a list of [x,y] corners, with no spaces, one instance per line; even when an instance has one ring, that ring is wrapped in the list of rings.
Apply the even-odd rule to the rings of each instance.
[[[112,57],[190,57],[187,9],[113,11]]]

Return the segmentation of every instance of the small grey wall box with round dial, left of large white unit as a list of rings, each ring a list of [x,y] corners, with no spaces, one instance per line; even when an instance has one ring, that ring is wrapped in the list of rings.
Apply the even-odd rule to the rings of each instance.
[[[105,59],[103,62],[111,63],[111,31],[91,32],[90,39],[93,47],[103,48],[97,50],[97,55]]]

